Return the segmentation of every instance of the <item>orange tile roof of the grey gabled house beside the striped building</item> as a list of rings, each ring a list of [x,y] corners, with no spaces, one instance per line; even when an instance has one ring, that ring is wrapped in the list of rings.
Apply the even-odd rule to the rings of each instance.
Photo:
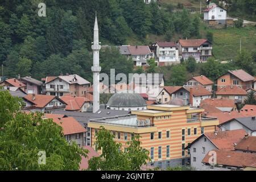
[[[234,150],[234,143],[240,142],[245,137],[246,131],[230,130],[216,131],[205,133],[204,135],[219,149],[219,150]]]

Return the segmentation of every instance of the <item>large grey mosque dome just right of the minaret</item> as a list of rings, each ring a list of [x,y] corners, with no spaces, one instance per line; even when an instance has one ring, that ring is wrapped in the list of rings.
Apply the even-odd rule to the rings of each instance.
[[[146,101],[138,93],[115,93],[110,97],[107,105],[113,107],[141,107],[146,106]]]

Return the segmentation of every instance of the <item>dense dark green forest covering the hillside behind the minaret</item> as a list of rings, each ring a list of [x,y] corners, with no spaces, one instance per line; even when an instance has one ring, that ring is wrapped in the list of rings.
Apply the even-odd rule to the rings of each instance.
[[[46,17],[38,16],[40,2],[46,3]],[[159,9],[158,4],[146,5],[143,0],[0,0],[0,64],[4,76],[20,74],[40,79],[77,73],[92,81],[90,45],[96,11],[102,45],[126,44],[134,36],[144,42],[148,34],[164,36],[166,40],[171,40],[174,34],[180,38],[206,38],[200,35],[199,15],[191,16],[182,6],[175,12],[173,9],[173,6]],[[255,53],[241,56],[247,56],[248,61],[240,65],[239,59],[236,65],[230,64],[232,68],[243,68],[254,75],[255,64],[250,63]],[[104,73],[109,73],[110,68],[115,68],[115,73],[133,72],[133,61],[120,55],[115,47],[101,49],[100,63]],[[191,73],[189,65],[196,67],[193,72],[213,77],[205,65],[194,65],[193,61],[154,71],[168,70],[167,83],[177,85],[179,82],[175,80],[180,80],[180,72]],[[218,74],[230,68],[219,67],[222,71],[216,71]],[[181,76],[185,79],[186,75]]]

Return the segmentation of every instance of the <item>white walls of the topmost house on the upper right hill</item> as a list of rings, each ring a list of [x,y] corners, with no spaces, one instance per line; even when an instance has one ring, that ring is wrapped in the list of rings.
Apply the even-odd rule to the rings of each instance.
[[[213,6],[212,9],[204,12],[204,20],[226,20],[226,10],[216,5]],[[221,23],[221,21],[219,23]]]

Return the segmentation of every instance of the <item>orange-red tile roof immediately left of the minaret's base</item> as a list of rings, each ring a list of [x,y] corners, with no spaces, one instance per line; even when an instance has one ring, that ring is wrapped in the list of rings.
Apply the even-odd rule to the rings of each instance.
[[[65,110],[80,110],[85,102],[90,102],[85,97],[76,96],[62,96],[60,99],[67,103]]]

